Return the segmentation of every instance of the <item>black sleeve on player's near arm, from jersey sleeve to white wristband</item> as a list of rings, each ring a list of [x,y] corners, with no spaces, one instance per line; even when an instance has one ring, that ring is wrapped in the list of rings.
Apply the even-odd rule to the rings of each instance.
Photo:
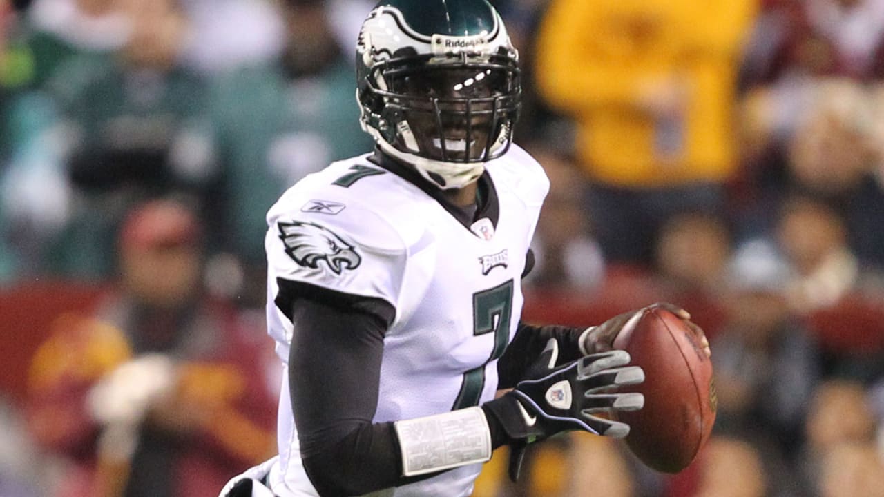
[[[429,478],[401,477],[392,423],[371,422],[387,324],[377,312],[343,302],[292,302],[289,389],[304,469],[320,495],[362,495]]]

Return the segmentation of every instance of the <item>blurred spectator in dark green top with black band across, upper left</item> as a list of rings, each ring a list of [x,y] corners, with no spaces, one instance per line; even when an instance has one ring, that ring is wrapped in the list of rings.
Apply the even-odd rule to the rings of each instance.
[[[65,229],[42,256],[51,272],[68,277],[110,274],[118,222],[141,199],[180,190],[206,210],[223,201],[210,195],[217,171],[206,83],[179,65],[189,29],[184,11],[178,0],[117,1],[131,30],[113,63],[74,60],[58,75],[64,86],[52,88],[73,197]],[[205,219],[215,242],[227,223]]]

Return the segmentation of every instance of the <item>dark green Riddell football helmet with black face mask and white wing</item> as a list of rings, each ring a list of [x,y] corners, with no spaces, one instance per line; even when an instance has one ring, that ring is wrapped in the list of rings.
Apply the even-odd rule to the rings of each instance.
[[[438,187],[463,187],[512,141],[518,53],[485,0],[384,0],[356,44],[362,128]]]

